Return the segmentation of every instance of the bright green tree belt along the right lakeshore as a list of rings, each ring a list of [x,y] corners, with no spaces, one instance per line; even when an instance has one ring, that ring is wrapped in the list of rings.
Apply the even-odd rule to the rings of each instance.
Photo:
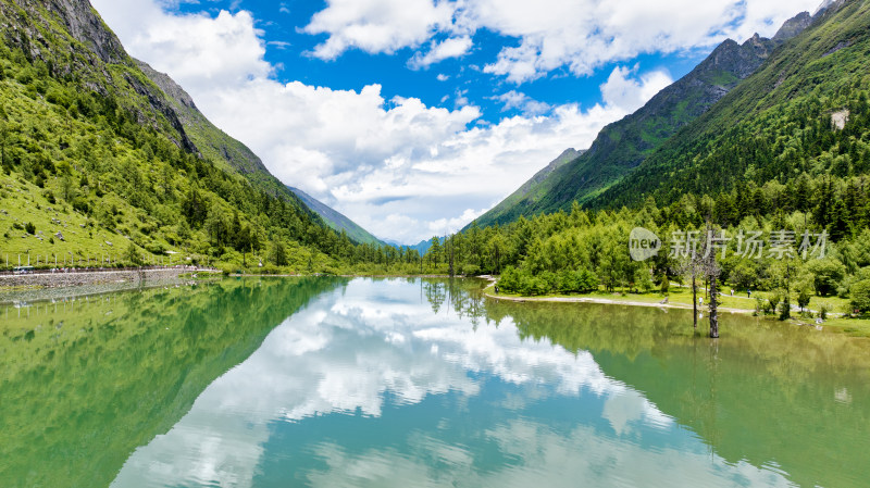
[[[684,195],[662,208],[651,198],[636,210],[594,211],[574,204],[570,213],[520,218],[504,227],[472,226],[440,246],[433,240],[425,259],[446,273],[500,274],[501,289],[521,295],[599,288],[667,292],[671,281],[688,276],[686,260],[671,255],[672,238],[698,232],[700,253],[709,224],[716,236],[724,232],[731,238],[722,245],[724,258],[717,251],[717,278],[724,286],[850,297],[858,309],[869,310],[870,188],[862,176],[801,175],[798,182],[798,192],[775,182],[748,184],[716,198]],[[629,240],[635,227],[648,228],[663,241],[657,256],[631,259]],[[741,230],[762,233],[759,259],[738,254]],[[790,237],[791,253],[771,253],[780,232]],[[813,246],[807,255],[800,252],[805,233]],[[822,233],[826,242],[815,248]]]

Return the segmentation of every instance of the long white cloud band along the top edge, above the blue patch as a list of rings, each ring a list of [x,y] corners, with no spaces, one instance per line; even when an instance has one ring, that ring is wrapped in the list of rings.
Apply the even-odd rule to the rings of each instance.
[[[641,53],[708,48],[728,37],[772,36],[788,17],[819,0],[331,0],[306,27],[327,34],[315,55],[346,49],[395,52],[437,33],[481,29],[517,38],[485,72],[523,83],[566,68],[587,75]],[[430,51],[430,53],[435,52]],[[418,53],[414,60],[426,59]],[[436,60],[437,61],[437,60]]]

